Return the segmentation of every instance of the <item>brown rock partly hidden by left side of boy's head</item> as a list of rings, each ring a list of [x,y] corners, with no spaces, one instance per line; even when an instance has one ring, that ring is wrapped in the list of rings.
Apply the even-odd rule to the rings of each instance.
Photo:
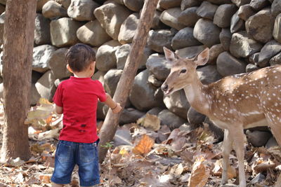
[[[65,54],[67,53],[67,50],[67,48],[59,48],[58,50],[55,50],[48,61],[55,79],[67,78],[72,75],[66,68],[67,63],[65,62]]]

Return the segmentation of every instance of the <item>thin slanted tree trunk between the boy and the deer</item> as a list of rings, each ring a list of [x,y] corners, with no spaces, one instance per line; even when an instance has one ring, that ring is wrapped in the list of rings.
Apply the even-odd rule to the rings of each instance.
[[[131,52],[126,60],[122,76],[113,97],[116,102],[121,104],[122,108],[124,108],[126,104],[126,99],[129,96],[136,72],[141,62],[141,54],[143,53],[143,49],[145,48],[148,39],[148,32],[150,31],[157,2],[158,0],[145,0],[145,4],[143,5],[141,18],[138,22],[135,36],[133,37]],[[117,114],[112,113],[111,110],[107,112],[107,116],[105,117],[103,127],[99,134],[100,144],[98,146],[98,158],[100,162],[103,162],[107,153],[107,148],[103,146],[107,142],[112,141],[115,136],[120,115],[121,112]]]

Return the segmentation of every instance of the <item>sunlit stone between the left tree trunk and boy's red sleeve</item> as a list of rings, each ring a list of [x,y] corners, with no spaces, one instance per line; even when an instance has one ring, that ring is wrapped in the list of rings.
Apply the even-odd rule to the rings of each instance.
[[[40,97],[48,99],[50,102],[53,101],[53,95],[55,94],[55,76],[50,71],[47,71],[41,78],[35,83],[37,92]]]

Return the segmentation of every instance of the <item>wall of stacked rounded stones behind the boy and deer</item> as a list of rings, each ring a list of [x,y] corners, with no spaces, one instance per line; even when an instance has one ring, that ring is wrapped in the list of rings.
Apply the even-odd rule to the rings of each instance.
[[[37,1],[32,104],[39,97],[51,100],[58,83],[70,76],[64,55],[78,42],[96,50],[94,78],[114,95],[143,0]],[[0,4],[0,11],[4,11],[5,1]],[[280,13],[280,0],[159,0],[121,123],[135,122],[146,112],[158,115],[172,128],[188,121],[202,123],[204,116],[190,108],[182,90],[163,95],[160,85],[169,74],[163,46],[182,57],[194,57],[209,47],[209,62],[198,69],[206,84],[223,76],[280,64]],[[0,16],[0,34],[3,23],[4,13]],[[106,111],[99,104],[98,118],[102,120]]]

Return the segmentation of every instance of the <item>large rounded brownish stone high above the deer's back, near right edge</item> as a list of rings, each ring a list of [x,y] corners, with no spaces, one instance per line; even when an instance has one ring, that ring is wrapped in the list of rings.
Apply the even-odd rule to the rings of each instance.
[[[247,33],[256,41],[266,43],[273,37],[274,19],[270,13],[270,8],[264,9],[252,15],[246,21]]]

